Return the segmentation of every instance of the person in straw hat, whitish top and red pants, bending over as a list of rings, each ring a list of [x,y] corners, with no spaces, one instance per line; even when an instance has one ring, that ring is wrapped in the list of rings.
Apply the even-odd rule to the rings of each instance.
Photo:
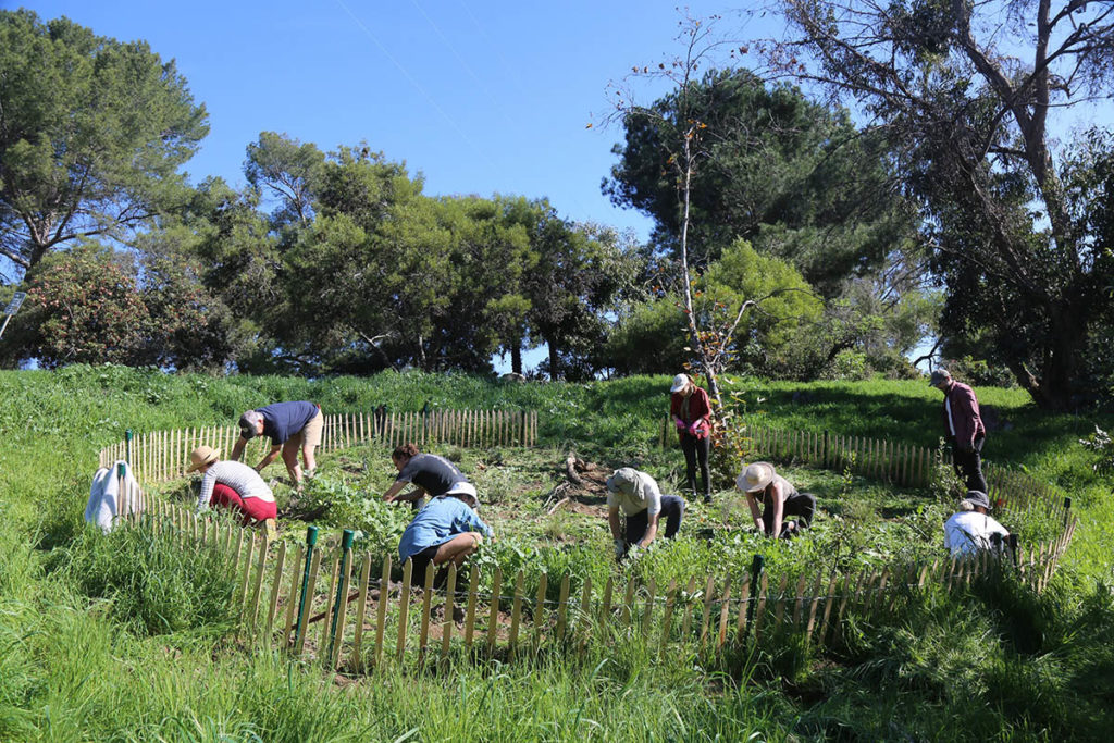
[[[189,452],[186,473],[202,473],[202,490],[197,510],[209,504],[243,514],[243,525],[262,524],[268,536],[274,535],[277,511],[275,497],[260,473],[242,462],[221,461],[221,452],[212,447],[197,447]]]

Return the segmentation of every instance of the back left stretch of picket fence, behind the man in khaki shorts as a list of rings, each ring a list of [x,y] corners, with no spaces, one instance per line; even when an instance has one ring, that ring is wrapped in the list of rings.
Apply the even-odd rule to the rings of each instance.
[[[459,447],[532,447],[538,437],[538,414],[530,410],[433,410],[428,413],[338,413],[325,416],[321,449],[332,451],[371,444],[392,448],[413,442]],[[117,460],[131,463],[136,479],[160,482],[183,476],[189,452],[199,446],[219,449],[225,456],[240,439],[236,426],[209,426],[174,431],[150,431],[125,439],[100,452],[100,466]],[[247,442],[244,461],[261,459],[271,440]]]

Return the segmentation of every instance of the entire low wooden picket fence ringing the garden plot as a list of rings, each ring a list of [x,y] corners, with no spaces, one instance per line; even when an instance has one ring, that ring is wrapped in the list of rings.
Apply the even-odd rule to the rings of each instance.
[[[326,419],[325,446],[341,448],[377,440],[384,444],[402,440],[528,444],[537,430],[532,413],[515,419],[494,411],[485,416],[446,411],[442,418],[432,418],[433,422],[429,417],[400,416],[393,426],[383,428],[369,423],[373,420],[370,416],[363,417],[363,423],[360,420],[350,416]],[[479,424],[481,420],[491,426]],[[927,482],[926,473],[935,462],[931,450],[890,447],[869,439],[761,427],[752,427],[751,433],[755,451],[772,459],[850,467],[906,485]],[[201,443],[225,448],[236,436],[232,427],[155,432],[130,441],[130,449],[128,442],[106,448],[100,461],[109,466],[130,454],[141,481],[172,479],[180,477],[192,448]],[[294,546],[268,544],[264,535],[226,518],[198,516],[183,506],[148,499],[139,489],[121,489],[118,512],[124,515],[121,524],[167,534],[183,549],[214,549],[223,555],[236,580],[233,602],[241,642],[281,648],[330,668],[363,672],[414,655],[433,659],[463,653],[512,659],[547,648],[584,652],[593,639],[609,642],[615,633],[641,633],[661,653],[677,644],[723,652],[788,635],[815,645],[833,644],[841,642],[846,619],[852,615],[868,619],[885,615],[917,592],[969,585],[991,571],[1013,571],[1034,590],[1043,590],[1072,540],[1077,519],[1068,504],[1059,508],[1051,490],[1034,487],[1024,476],[999,473],[995,488],[1008,504],[1024,502],[1062,516],[1063,520],[1056,521],[1059,536],[1005,556],[983,551],[970,558],[891,565],[847,575],[819,567],[811,574],[771,576],[758,561],[745,575],[692,576],[667,586],[653,580],[641,585],[616,576],[603,586],[593,585],[590,579],[574,585],[577,581],[568,575],[541,575],[530,593],[522,571],[504,575],[499,569],[481,588],[475,565],[460,574],[450,568],[446,586],[434,590],[433,567],[424,576],[414,576],[408,560],[401,580],[392,583],[391,555],[355,553],[344,547],[344,539],[321,547],[311,546],[309,540]],[[1026,501],[1022,489],[1036,495]],[[556,600],[549,598],[550,585],[558,586]],[[455,609],[460,609],[460,619]]]

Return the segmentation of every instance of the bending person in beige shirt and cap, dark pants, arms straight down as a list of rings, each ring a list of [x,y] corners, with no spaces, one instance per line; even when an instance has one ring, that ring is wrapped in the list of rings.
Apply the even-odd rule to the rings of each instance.
[[[619,511],[626,529],[619,524]],[[681,528],[685,501],[680,496],[663,496],[657,482],[631,467],[615,470],[607,478],[607,524],[615,540],[615,557],[622,559],[633,546],[649,547],[657,538],[661,517],[665,516],[665,538]]]

